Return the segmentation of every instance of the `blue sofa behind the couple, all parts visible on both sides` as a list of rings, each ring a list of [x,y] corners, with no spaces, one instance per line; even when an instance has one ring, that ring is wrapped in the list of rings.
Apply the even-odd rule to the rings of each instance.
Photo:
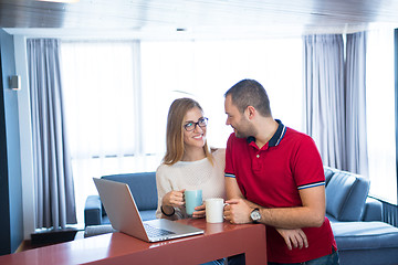
[[[331,220],[342,265],[398,264],[398,229],[383,220],[381,202],[368,197],[369,180],[350,172],[324,168],[326,216]],[[155,219],[157,190],[155,172],[104,176],[128,183],[143,220]],[[98,195],[86,200],[88,234],[112,232]],[[100,232],[96,227],[100,227]],[[86,231],[87,231],[86,229]]]

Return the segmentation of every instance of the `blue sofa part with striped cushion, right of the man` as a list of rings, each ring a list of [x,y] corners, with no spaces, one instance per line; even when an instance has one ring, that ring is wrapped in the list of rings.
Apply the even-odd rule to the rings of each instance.
[[[368,197],[369,180],[324,168],[326,216],[342,265],[398,264],[398,229],[383,220],[383,204]]]

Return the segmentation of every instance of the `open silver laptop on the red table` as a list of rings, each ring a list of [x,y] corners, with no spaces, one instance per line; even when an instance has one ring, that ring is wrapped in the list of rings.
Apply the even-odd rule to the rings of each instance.
[[[112,226],[146,242],[159,242],[205,231],[166,219],[143,222],[128,184],[93,178]]]

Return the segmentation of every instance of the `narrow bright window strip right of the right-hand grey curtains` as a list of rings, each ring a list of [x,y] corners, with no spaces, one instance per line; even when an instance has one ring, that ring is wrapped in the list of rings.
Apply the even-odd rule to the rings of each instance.
[[[394,31],[369,31],[366,56],[370,194],[396,204]]]

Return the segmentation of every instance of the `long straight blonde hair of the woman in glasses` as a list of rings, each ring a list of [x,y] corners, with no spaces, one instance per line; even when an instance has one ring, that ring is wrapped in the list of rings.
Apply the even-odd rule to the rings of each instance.
[[[167,116],[166,128],[166,155],[164,157],[165,165],[174,165],[182,159],[184,156],[184,117],[192,108],[203,109],[198,102],[191,98],[178,98],[172,102]],[[207,142],[205,142],[203,151],[206,157],[212,163],[212,156],[209,151]]]

